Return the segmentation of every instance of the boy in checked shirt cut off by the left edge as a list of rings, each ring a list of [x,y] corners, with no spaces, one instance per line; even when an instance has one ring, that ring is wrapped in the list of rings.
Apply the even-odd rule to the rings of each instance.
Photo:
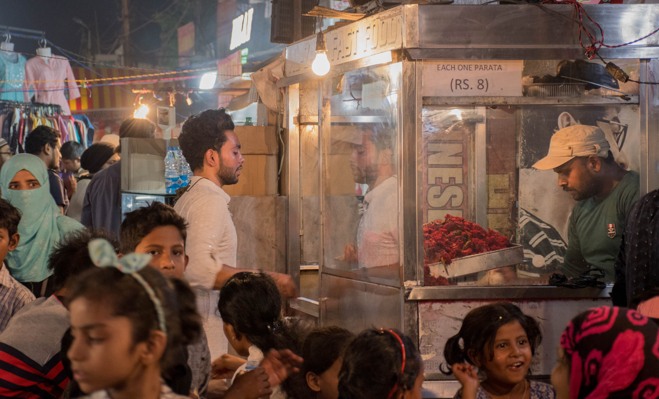
[[[4,263],[7,253],[18,246],[18,223],[20,210],[0,198],[0,333],[18,309],[34,300],[34,294],[9,274]]]

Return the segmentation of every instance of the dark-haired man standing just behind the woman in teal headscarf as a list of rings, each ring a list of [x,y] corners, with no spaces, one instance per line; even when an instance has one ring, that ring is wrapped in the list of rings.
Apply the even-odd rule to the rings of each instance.
[[[52,127],[37,126],[25,138],[25,152],[38,156],[45,164],[45,168],[48,169],[50,195],[55,199],[59,212],[65,215],[69,208],[69,195],[64,187],[64,181],[55,172],[59,168],[61,158],[59,150],[62,148],[62,142],[60,138],[59,131]]]

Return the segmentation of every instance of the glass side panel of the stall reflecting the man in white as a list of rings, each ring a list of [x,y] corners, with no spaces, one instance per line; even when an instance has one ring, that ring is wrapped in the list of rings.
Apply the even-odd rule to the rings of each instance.
[[[401,63],[332,79],[324,138],[324,265],[400,285],[398,93]]]

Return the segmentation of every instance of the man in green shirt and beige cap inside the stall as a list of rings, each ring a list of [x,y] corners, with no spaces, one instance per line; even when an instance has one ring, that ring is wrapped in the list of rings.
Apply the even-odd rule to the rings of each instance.
[[[606,272],[604,281],[614,282],[622,229],[640,195],[639,173],[621,168],[604,132],[586,125],[554,133],[549,153],[533,168],[554,169],[559,187],[579,201],[570,216],[561,272],[574,277],[593,266]]]

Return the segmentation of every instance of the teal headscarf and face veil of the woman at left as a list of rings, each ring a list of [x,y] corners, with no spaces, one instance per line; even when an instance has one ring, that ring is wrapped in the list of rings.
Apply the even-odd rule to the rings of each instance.
[[[26,169],[41,184],[33,190],[10,190],[9,183],[18,171]],[[65,233],[84,228],[76,220],[62,216],[50,195],[48,171],[43,161],[30,154],[9,158],[0,169],[0,188],[3,199],[11,202],[22,214],[18,233],[20,241],[7,254],[9,273],[20,282],[40,282],[51,275],[48,257]]]

